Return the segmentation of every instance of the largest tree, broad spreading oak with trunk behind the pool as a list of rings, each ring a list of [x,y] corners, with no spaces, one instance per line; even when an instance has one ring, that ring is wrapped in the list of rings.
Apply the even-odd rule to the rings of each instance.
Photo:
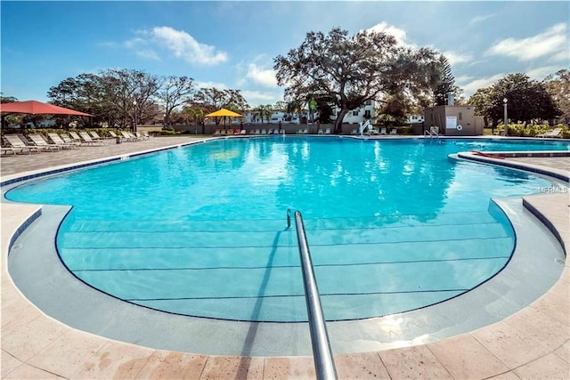
[[[328,35],[309,32],[287,56],[274,61],[278,85],[286,101],[329,98],[338,107],[335,132],[351,109],[383,95],[430,93],[440,69],[435,51],[398,47],[394,36],[361,31],[348,36],[333,28]]]

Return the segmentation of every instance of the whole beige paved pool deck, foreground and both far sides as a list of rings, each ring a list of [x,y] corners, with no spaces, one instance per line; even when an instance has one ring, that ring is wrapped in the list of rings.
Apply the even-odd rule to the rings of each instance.
[[[53,153],[3,156],[2,181],[18,174],[186,143],[189,137],[108,142]],[[493,160],[493,159],[491,159]],[[570,175],[570,158],[503,163]],[[570,248],[570,194],[525,197]],[[311,357],[224,357],[167,352],[85,333],[51,319],[21,295],[7,269],[12,236],[40,206],[2,203],[2,378],[314,378]],[[570,378],[570,270],[525,309],[468,334],[380,352],[335,355],[338,378]],[[307,332],[308,334],[308,332]]]

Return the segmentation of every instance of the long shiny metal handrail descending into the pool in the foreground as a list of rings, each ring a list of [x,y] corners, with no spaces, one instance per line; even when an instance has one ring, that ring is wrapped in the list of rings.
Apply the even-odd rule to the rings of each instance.
[[[297,225],[297,240],[299,254],[301,255],[301,269],[303,271],[303,284],[305,286],[306,311],[309,316],[309,328],[311,330],[311,344],[313,344],[314,370],[317,379],[337,379],[337,369],[330,349],[329,334],[322,315],[321,297],[314,279],[313,262],[311,252],[306,241],[305,225],[303,216],[295,212]]]

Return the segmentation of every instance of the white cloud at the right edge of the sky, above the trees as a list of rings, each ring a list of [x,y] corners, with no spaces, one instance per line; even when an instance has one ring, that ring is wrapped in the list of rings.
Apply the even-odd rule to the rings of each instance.
[[[518,61],[532,61],[549,56],[557,61],[567,60],[569,42],[566,29],[566,23],[562,22],[536,36],[507,38],[493,44],[486,54],[514,57]]]

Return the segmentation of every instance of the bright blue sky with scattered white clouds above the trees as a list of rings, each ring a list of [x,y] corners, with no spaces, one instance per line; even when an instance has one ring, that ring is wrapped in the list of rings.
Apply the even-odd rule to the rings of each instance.
[[[512,73],[541,81],[570,66],[567,1],[0,2],[3,96],[49,101],[68,77],[106,69],[191,77],[281,101],[273,64],[332,28],[383,30],[448,58],[466,97]]]

